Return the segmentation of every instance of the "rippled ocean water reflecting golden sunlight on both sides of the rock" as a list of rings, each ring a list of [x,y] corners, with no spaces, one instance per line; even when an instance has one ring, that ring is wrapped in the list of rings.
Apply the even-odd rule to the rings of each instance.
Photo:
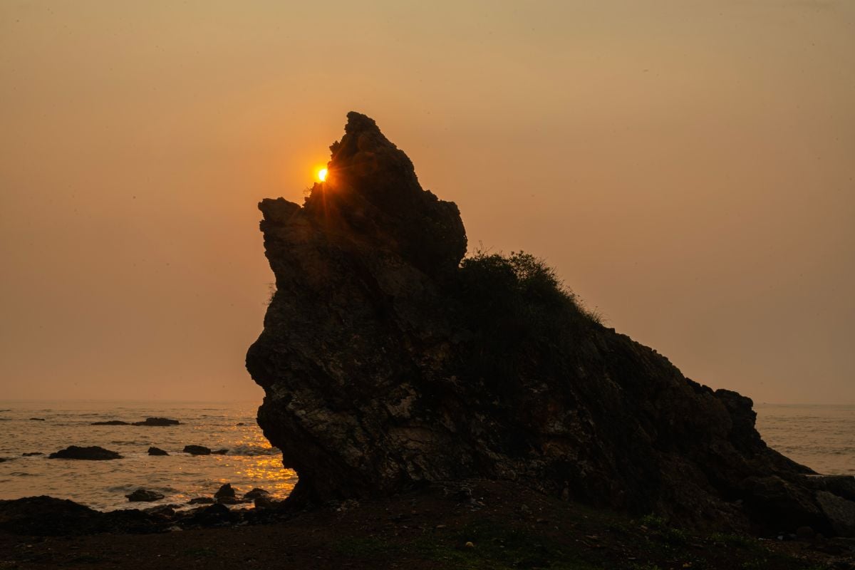
[[[260,487],[287,497],[297,474],[282,467],[256,424],[257,403],[0,402],[0,499],[68,498],[101,510],[140,504],[186,504],[210,497],[223,483],[244,493]],[[855,406],[758,404],[758,430],[770,447],[818,473],[855,475]],[[180,420],[180,426],[91,426],[93,421]],[[40,418],[41,420],[31,420]],[[227,449],[187,455],[185,445]],[[68,445],[118,451],[115,461],[50,460]],[[150,456],[150,446],[168,456]],[[41,452],[44,455],[23,456]],[[158,502],[128,502],[139,488]]]

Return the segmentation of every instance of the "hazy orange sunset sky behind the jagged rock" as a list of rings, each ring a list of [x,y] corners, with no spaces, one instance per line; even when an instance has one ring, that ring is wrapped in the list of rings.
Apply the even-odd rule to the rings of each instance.
[[[855,3],[0,3],[0,400],[258,400],[257,203],[363,112],[609,326],[855,404]]]

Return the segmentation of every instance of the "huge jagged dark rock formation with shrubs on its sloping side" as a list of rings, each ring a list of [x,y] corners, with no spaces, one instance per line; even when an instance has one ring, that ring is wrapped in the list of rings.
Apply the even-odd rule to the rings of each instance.
[[[457,206],[374,120],[349,114],[331,150],[302,207],[259,204],[276,292],[247,368],[293,501],[486,477],[695,526],[852,532],[855,481],[766,447],[750,399],[601,326],[533,258],[461,263]]]

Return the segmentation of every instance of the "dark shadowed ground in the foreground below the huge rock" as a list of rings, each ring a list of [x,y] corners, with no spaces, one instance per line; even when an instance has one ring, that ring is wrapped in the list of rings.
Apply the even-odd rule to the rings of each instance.
[[[255,526],[156,534],[0,534],[20,568],[855,569],[855,540],[697,535],[495,482],[436,485]]]

